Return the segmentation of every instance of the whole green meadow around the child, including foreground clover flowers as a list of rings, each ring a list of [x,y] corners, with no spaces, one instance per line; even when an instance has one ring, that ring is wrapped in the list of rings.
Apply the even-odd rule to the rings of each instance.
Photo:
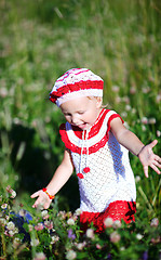
[[[82,235],[75,173],[49,210],[30,198],[62,160],[49,93],[72,67],[99,75],[104,104],[161,156],[160,1],[1,0],[0,16],[0,259],[161,260],[161,179],[132,154],[135,223]]]

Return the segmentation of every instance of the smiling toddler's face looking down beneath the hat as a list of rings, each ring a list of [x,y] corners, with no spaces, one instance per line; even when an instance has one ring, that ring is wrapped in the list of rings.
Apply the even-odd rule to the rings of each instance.
[[[88,130],[96,121],[100,106],[100,98],[82,96],[63,103],[61,109],[69,123]]]

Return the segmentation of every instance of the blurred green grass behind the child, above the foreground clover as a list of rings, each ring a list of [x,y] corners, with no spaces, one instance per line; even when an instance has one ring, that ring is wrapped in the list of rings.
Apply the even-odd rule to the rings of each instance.
[[[105,80],[104,103],[121,114],[161,155],[161,1],[0,0],[0,185],[22,203],[45,186],[58,166],[64,118],[49,101],[54,81],[72,67]],[[161,181],[146,179],[131,155],[138,212],[161,217]],[[138,178],[137,178],[138,180]],[[79,207],[73,176],[58,193],[59,208]]]

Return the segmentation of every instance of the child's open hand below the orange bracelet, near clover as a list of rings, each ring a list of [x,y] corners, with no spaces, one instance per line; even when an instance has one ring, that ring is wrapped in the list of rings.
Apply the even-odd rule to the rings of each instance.
[[[31,198],[38,197],[35,204],[32,205],[32,208],[37,208],[40,206],[43,207],[44,209],[48,209],[52,202],[52,199],[50,199],[49,196],[42,190],[33,193],[30,197]]]

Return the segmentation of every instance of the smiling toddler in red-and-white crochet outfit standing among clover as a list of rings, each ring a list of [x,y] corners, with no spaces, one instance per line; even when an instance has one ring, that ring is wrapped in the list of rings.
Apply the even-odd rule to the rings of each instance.
[[[144,145],[123,125],[113,110],[102,108],[104,81],[86,68],[73,68],[58,78],[50,100],[62,109],[67,122],[59,133],[65,143],[62,164],[45,188],[31,195],[38,197],[33,208],[52,198],[76,169],[80,191],[80,222],[93,222],[96,232],[104,231],[104,220],[134,221],[136,190],[130,166],[129,151],[138,156],[145,176],[148,166],[160,173],[161,158],[153,154],[157,140]]]

